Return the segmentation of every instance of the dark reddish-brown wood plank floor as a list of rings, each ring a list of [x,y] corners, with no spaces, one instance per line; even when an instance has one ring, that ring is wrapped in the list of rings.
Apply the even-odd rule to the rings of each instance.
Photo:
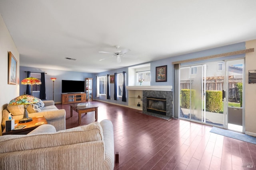
[[[98,107],[98,121],[109,119],[114,125],[115,170],[255,170],[256,145],[210,133],[212,127],[189,121],[144,115],[136,109],[104,102]],[[66,128],[78,125],[78,114],[70,117],[66,109]],[[95,121],[94,112],[82,115],[82,124]],[[246,168],[249,165],[251,168]]]

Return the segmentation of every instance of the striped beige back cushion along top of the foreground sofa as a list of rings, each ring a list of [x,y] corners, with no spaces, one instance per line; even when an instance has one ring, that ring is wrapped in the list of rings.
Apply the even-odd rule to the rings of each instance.
[[[0,137],[0,153],[21,150],[40,149],[72,145],[89,141],[103,140],[100,123],[74,127],[56,133],[39,133],[33,135],[4,135]]]

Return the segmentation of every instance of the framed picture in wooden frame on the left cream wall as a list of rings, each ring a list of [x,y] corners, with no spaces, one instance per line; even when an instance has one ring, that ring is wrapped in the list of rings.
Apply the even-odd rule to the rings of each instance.
[[[17,81],[17,60],[9,51],[9,62],[8,62],[8,84],[16,84]]]

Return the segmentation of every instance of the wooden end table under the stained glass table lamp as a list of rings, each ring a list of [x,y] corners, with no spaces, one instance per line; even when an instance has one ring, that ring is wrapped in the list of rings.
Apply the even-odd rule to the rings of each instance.
[[[15,127],[17,127],[18,125],[26,125],[26,126],[23,127],[22,129],[12,130],[8,132],[6,132],[6,128],[4,128],[2,135],[26,135],[30,133],[30,131],[36,129],[38,126],[43,124],[48,124],[44,116],[32,117],[32,121],[29,121],[27,123],[19,123],[19,120],[15,120],[15,124],[16,123],[17,125]]]

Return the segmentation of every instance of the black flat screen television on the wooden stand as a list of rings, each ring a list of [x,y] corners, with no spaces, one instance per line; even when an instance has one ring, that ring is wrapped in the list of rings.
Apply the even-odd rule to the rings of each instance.
[[[85,92],[85,81],[62,80],[62,93],[80,93]]]

